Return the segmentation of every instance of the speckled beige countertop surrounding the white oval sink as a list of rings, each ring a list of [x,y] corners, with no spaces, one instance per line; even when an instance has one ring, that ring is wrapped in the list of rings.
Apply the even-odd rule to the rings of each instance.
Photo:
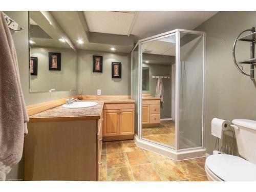
[[[98,104],[89,108],[70,109],[62,105],[31,115],[30,121],[38,120],[75,120],[75,119],[99,119],[104,103],[134,103],[132,99],[83,99],[80,101],[94,101]]]

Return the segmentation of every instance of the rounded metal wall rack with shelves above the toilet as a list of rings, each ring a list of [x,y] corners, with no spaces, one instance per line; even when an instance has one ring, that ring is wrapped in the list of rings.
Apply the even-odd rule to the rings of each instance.
[[[249,34],[241,36],[243,33],[250,31]],[[256,43],[256,38],[255,38],[256,32],[255,32],[255,28],[252,27],[251,29],[246,29],[244,31],[242,31],[238,37],[236,38],[236,40],[234,40],[234,45],[233,45],[233,49],[232,49],[232,55],[233,55],[233,61],[234,61],[234,65],[236,66],[236,68],[238,69],[239,72],[241,72],[243,75],[249,76],[250,79],[254,79],[254,65],[256,64],[256,58],[254,57],[254,47],[255,47],[255,43]],[[247,41],[250,42],[250,59],[246,59],[243,61],[237,61],[236,59],[236,45],[237,45],[237,41]],[[238,66],[238,64],[249,64],[250,65],[250,73],[247,74],[243,71],[243,67],[242,66]]]

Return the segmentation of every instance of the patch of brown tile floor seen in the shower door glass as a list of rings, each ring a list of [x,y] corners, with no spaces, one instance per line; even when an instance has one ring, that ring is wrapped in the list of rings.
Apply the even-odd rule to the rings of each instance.
[[[158,143],[174,146],[175,121],[160,121],[158,127],[142,128],[142,137]]]

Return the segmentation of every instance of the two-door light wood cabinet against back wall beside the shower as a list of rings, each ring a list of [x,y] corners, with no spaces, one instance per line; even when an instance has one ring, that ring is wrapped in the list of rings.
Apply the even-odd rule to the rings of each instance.
[[[103,140],[133,139],[134,103],[105,104],[103,109]]]

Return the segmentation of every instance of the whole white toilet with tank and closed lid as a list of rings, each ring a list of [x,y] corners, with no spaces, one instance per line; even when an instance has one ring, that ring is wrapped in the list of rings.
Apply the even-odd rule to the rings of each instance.
[[[209,181],[256,181],[256,121],[234,119],[238,151],[241,157],[217,154],[205,161]]]

